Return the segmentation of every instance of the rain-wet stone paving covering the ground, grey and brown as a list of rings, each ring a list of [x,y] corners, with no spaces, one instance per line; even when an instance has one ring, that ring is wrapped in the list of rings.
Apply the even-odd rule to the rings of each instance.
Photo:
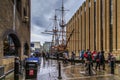
[[[115,67],[115,74],[110,74],[110,67],[106,64],[106,70],[94,70],[94,75],[88,76],[85,73],[85,67],[81,63],[76,63],[75,65],[63,64],[61,62],[61,80],[120,80],[120,66],[119,64]],[[93,67],[94,68],[94,67]],[[12,75],[12,76],[11,76]],[[13,80],[14,74],[10,74],[5,80]],[[41,59],[41,65],[38,70],[36,80],[59,80],[58,79],[58,61],[57,60],[43,60]],[[20,75],[19,80],[25,80],[25,74]],[[33,80],[33,79],[29,79]]]

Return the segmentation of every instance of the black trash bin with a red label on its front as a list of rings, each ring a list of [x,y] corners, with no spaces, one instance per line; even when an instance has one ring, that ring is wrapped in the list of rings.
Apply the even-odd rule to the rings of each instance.
[[[37,62],[26,61],[25,66],[25,78],[26,79],[36,79],[37,78]]]

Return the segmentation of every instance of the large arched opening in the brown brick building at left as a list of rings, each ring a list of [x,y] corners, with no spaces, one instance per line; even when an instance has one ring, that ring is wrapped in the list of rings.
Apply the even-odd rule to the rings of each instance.
[[[7,30],[3,34],[3,55],[4,56],[19,56],[20,57],[20,40],[13,30]]]

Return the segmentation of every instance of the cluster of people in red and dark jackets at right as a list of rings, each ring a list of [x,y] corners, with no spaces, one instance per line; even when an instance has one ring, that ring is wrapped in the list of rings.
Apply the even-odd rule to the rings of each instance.
[[[108,57],[107,59],[105,59],[104,56],[104,51],[93,51],[91,52],[89,49],[87,49],[87,51],[80,51],[80,59],[82,61],[85,61],[85,65],[89,62],[91,64],[91,66],[93,66],[93,62],[96,63],[95,65],[95,69],[99,69],[101,70],[105,70],[105,61],[108,61],[108,63],[110,64],[110,66],[112,66],[111,61],[115,62],[115,57],[112,53],[108,53]]]

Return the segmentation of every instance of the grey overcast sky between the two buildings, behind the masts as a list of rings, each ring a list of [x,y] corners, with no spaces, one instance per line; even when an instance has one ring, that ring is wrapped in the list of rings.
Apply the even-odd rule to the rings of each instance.
[[[85,0],[64,0],[66,22],[72,17],[76,10]],[[31,0],[31,41],[40,42],[51,41],[52,36],[42,34],[46,29],[52,28],[55,9],[60,9],[62,0]],[[59,12],[57,12],[58,14]],[[59,16],[59,14],[58,14]]]

